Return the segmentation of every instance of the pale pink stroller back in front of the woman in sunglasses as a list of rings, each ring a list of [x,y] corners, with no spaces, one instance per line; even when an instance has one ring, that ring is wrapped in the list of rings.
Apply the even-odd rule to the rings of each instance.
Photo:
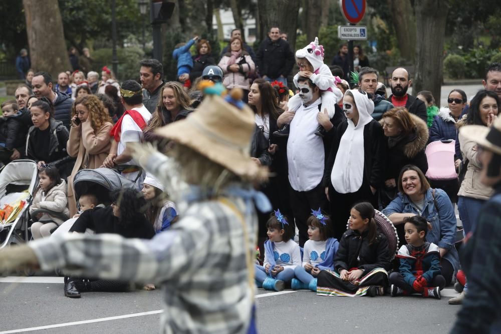
[[[454,140],[437,140],[429,143],[425,154],[428,159],[426,177],[430,180],[453,180],[457,178],[454,167]]]

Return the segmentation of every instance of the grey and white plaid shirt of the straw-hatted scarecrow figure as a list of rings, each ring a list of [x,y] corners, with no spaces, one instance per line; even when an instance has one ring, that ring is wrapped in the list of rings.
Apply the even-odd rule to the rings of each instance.
[[[251,254],[257,216],[240,198]],[[220,201],[193,202],[170,230],[151,240],[114,234],[64,235],[31,242],[43,270],[75,276],[165,282],[164,333],[247,331],[254,288],[249,286],[241,218]]]

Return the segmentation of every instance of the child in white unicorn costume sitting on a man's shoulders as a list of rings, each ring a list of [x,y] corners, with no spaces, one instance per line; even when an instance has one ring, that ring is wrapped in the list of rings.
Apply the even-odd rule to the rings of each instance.
[[[324,47],[318,44],[318,37],[315,42],[301,50],[296,51],[296,60],[299,71],[294,76],[294,84],[298,86],[299,77],[309,78],[322,91],[322,105],[320,112],[327,114],[329,119],[334,117],[336,104],[343,98],[343,94],[337,88],[335,77],[332,75],[329,66],[324,64]],[[290,112],[296,112],[301,106],[301,98],[296,94],[289,99],[288,108]],[[289,136],[290,125],[284,124],[281,129],[273,134],[278,137]],[[323,137],[325,129],[319,124],[315,135]]]

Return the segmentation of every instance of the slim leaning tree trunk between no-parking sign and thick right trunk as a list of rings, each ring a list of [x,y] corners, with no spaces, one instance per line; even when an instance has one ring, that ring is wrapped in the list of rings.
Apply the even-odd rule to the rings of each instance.
[[[416,1],[416,6],[421,0]],[[393,18],[393,29],[395,31],[398,49],[402,58],[412,62],[415,56],[416,45],[416,19],[410,0],[388,0]]]

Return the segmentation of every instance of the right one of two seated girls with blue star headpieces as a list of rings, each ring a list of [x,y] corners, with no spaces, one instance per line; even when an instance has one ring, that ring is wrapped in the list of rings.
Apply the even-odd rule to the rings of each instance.
[[[331,219],[320,208],[312,210],[308,218],[308,236],[303,252],[303,265],[294,269],[297,278],[293,278],[291,287],[296,289],[310,289],[317,291],[317,275],[321,270],[334,269],[334,255],[338,251],[339,242],[329,237]]]

